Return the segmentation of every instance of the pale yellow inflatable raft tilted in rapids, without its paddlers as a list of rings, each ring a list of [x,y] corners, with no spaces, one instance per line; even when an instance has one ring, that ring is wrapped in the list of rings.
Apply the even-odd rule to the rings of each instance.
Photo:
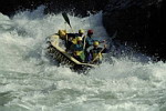
[[[71,53],[65,51],[65,43],[58,34],[53,34],[48,38],[48,53],[55,59],[59,63],[70,67],[74,71],[86,72],[91,68],[95,68],[95,64],[83,63],[72,57]]]

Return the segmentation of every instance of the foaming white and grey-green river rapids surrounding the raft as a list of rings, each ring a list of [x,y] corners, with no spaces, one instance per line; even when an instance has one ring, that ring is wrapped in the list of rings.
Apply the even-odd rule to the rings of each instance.
[[[45,56],[45,38],[71,29],[61,13],[43,11],[0,13],[0,111],[166,111],[166,63],[133,51],[107,54],[87,75],[58,67]],[[110,38],[102,12],[69,17],[74,31]]]

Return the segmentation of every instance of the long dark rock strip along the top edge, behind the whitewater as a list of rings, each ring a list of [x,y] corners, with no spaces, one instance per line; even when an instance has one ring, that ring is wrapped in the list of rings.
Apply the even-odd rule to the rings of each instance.
[[[87,16],[87,11],[96,12],[107,4],[108,0],[1,0],[0,12],[11,16],[20,10],[33,10],[40,4],[46,7],[45,13],[73,12]]]

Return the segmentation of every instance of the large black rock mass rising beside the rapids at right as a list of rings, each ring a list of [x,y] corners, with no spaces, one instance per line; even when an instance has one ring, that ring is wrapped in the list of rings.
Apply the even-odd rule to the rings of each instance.
[[[110,36],[117,31],[122,42],[132,42],[151,56],[166,59],[164,0],[111,0],[104,9],[103,24]]]

